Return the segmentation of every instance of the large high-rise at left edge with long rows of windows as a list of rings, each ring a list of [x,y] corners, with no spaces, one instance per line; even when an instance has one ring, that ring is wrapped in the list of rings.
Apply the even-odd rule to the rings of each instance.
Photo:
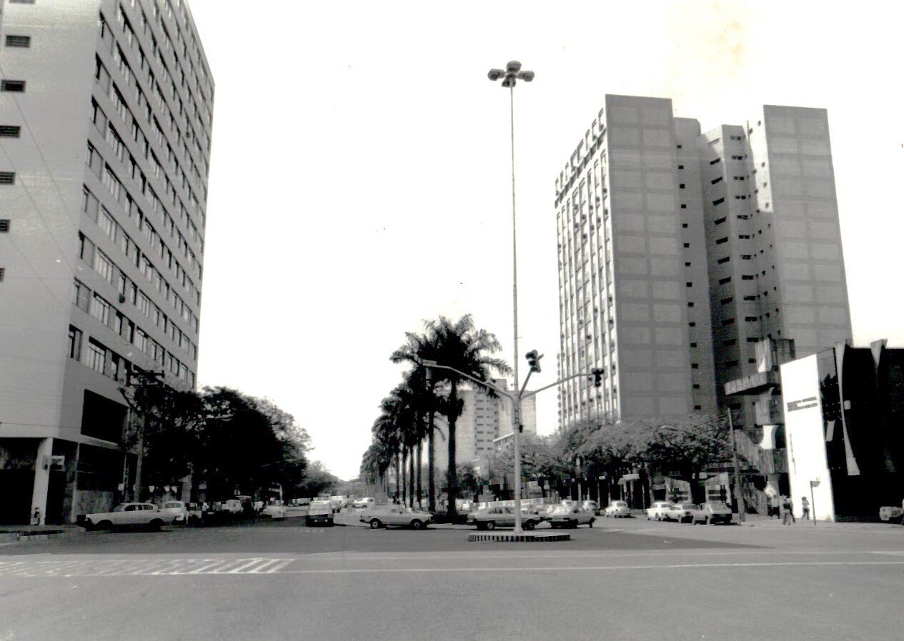
[[[128,373],[194,386],[213,83],[184,0],[9,0],[0,41],[0,521],[62,523],[133,478]]]

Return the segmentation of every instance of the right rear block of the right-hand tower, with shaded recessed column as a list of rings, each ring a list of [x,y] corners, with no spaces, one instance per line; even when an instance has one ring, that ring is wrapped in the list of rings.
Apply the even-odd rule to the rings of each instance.
[[[698,149],[721,400],[757,371],[759,340],[803,358],[851,339],[851,315],[825,110],[766,106]]]

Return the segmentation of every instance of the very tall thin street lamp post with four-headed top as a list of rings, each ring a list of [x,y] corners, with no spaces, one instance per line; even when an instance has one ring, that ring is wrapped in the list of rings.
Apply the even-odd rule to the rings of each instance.
[[[518,387],[518,235],[515,225],[514,207],[514,86],[518,80],[531,82],[533,71],[522,71],[521,62],[511,60],[505,65],[505,70],[491,69],[486,74],[487,78],[494,82],[502,79],[502,85],[509,90],[509,120],[511,123],[512,137],[512,302],[513,302],[513,326],[514,326],[514,389]],[[519,432],[521,428],[521,395],[513,398],[513,448],[514,448],[514,531],[521,534],[521,443]]]

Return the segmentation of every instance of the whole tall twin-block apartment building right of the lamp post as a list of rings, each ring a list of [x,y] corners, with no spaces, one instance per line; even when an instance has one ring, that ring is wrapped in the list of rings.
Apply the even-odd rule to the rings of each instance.
[[[826,113],[763,107],[702,135],[607,96],[556,180],[560,428],[712,412],[760,339],[851,336]]]

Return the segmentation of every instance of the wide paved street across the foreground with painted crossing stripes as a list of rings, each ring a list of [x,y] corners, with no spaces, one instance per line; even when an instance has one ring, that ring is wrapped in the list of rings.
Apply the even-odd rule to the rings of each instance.
[[[904,528],[282,523],[0,547],[0,639],[899,638]]]

